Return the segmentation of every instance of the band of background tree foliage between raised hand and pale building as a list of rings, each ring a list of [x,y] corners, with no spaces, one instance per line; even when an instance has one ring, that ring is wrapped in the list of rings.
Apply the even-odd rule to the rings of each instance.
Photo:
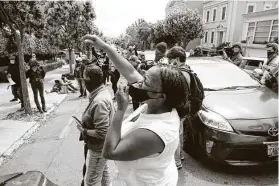
[[[187,9],[183,13],[173,14],[154,24],[138,19],[126,29],[126,34],[129,37],[126,45],[150,46],[150,43],[166,42],[169,47],[176,43],[186,47],[191,40],[202,38],[204,32],[198,12]]]

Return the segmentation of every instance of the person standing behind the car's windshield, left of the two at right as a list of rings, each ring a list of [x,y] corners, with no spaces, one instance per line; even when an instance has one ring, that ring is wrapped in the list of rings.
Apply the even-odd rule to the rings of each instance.
[[[233,56],[229,58],[226,51],[223,49],[223,59],[230,61],[231,63],[235,64],[236,66],[240,66],[242,64],[242,47],[240,43],[236,43],[232,46],[233,49]]]

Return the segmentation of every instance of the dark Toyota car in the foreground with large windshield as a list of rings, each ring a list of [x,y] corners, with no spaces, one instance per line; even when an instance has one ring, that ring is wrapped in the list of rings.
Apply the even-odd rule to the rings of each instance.
[[[229,165],[278,161],[278,96],[234,64],[189,58],[204,89],[202,110],[185,123],[186,150]],[[191,147],[191,148],[190,148]]]

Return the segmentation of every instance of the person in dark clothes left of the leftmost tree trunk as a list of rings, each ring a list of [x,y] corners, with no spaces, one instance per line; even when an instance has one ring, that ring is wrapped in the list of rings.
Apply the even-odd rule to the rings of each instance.
[[[21,83],[20,83],[20,73],[19,73],[19,64],[18,60],[14,55],[11,55],[10,57],[10,65],[7,70],[7,77],[11,78],[15,84],[11,86],[12,88],[12,94],[14,98],[10,100],[11,102],[17,101],[20,99],[21,102],[21,110],[23,110],[23,99],[22,99],[22,92],[21,92]]]

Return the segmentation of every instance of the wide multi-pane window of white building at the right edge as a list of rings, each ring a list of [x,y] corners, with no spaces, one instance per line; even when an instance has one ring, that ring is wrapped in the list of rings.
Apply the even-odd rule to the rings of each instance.
[[[255,44],[266,44],[278,36],[278,19],[251,22],[248,25],[247,37],[252,36]]]

